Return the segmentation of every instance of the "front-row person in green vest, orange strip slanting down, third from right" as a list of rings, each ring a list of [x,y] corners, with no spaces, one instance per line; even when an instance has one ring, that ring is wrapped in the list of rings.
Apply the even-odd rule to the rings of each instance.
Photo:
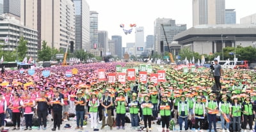
[[[221,119],[221,128],[222,128],[222,132],[225,132],[225,129],[229,129],[229,122],[226,122],[225,124],[225,118],[224,115],[227,116],[228,119],[230,119],[230,115],[231,115],[231,105],[230,103],[227,101],[227,96],[226,95],[222,95],[221,98],[222,101],[220,101],[219,103],[219,110],[220,110],[220,119]]]

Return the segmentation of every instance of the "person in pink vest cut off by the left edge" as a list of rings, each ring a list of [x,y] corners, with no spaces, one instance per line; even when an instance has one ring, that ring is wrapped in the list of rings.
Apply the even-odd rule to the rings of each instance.
[[[0,127],[1,127],[1,131],[4,130],[4,117],[6,114],[6,108],[7,108],[6,100],[3,99],[3,95],[0,94]]]

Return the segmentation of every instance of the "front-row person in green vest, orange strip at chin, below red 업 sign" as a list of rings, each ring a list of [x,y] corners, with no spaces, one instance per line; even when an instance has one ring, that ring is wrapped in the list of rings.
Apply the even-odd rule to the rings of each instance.
[[[127,103],[126,103],[126,99],[124,98],[123,92],[120,92],[118,94],[118,98],[116,98],[115,105],[116,105],[116,126],[117,126],[116,129],[120,129],[121,120],[122,120],[122,129],[125,129],[124,128],[125,113],[126,113],[125,106],[127,106]]]

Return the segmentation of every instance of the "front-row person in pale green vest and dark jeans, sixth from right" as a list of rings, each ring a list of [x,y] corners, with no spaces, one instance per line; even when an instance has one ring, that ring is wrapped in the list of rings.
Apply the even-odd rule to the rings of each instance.
[[[185,122],[185,131],[188,131],[188,114],[189,114],[189,104],[186,101],[186,96],[180,96],[180,101],[178,105],[178,114],[179,114],[179,124],[180,131],[182,131],[182,122]]]

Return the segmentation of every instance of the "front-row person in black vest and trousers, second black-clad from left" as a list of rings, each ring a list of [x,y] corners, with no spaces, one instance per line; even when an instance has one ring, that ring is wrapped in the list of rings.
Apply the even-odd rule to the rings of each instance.
[[[64,105],[63,99],[60,97],[60,92],[56,91],[54,98],[52,98],[52,110],[53,110],[53,128],[52,131],[60,130],[61,117],[62,117],[62,106]]]

